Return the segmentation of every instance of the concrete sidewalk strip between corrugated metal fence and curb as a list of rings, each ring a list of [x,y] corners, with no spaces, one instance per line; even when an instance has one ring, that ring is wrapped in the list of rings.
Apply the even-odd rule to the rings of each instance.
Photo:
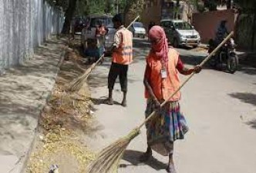
[[[39,115],[56,82],[64,40],[36,48],[24,65],[0,76],[0,173],[22,172]]]

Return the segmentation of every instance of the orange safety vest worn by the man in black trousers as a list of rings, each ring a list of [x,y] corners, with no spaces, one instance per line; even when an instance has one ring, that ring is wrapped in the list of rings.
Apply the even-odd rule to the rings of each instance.
[[[116,34],[121,35],[122,41],[113,52],[112,62],[120,65],[130,65],[133,62],[133,34],[126,28],[117,32]]]

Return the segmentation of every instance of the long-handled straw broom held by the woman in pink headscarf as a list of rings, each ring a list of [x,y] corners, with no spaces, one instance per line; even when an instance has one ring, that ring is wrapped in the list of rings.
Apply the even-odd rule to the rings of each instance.
[[[225,42],[227,42],[228,39],[231,38],[231,36],[234,34],[234,32],[231,32],[230,35],[227,36],[227,38],[224,39],[223,42],[221,42],[220,45],[217,46],[217,48],[214,49],[213,52],[211,52],[210,55],[207,56],[207,58],[204,59],[203,62],[200,63],[200,67],[202,67],[211,57],[214,55],[219,48],[221,48]],[[170,95],[170,98],[173,97],[173,95],[176,95],[178,91],[180,91],[181,88],[184,87],[184,85],[194,76],[195,72],[193,72],[184,82],[182,85],[180,85],[179,88],[177,88],[177,91],[174,91],[173,94]],[[161,104],[161,108],[167,104],[167,99]],[[108,147],[104,148],[102,151],[99,152],[97,158],[95,161],[93,161],[87,168],[86,173],[113,173],[117,172],[117,168],[120,162],[120,159],[123,157],[123,153],[126,150],[127,146],[130,144],[130,141],[133,140],[133,138],[136,138],[137,135],[140,134],[140,128],[143,127],[148,121],[150,121],[153,116],[156,115],[156,111],[153,111],[150,116],[143,121],[141,125],[139,125],[137,128],[134,128],[133,131],[130,132],[130,134],[126,135],[123,138],[120,138],[119,140],[115,141],[113,144],[109,145]]]

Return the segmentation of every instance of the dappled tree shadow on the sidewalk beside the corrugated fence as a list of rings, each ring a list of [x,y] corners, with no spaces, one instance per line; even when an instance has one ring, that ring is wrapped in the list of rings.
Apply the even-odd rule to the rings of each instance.
[[[1,76],[1,117],[12,117],[10,123],[23,123],[27,116],[37,117],[35,110],[42,105],[42,95],[47,94],[47,82],[54,80],[52,74],[57,71],[61,47],[62,42],[59,40],[45,42],[41,47],[35,48],[32,61],[15,66]]]

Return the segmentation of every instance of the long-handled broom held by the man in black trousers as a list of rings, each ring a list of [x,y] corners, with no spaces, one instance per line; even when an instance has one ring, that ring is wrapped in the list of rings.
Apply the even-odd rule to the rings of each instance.
[[[130,25],[128,25],[126,28],[130,28],[131,25],[133,25],[134,22],[136,22],[136,20],[140,18],[140,15],[138,15],[133,22],[130,23]],[[87,78],[89,77],[89,75],[91,74],[91,72],[93,71],[93,69],[96,67],[96,65],[99,64],[99,62],[104,58],[104,54],[99,57],[99,59],[93,63],[93,65],[91,65],[86,72],[79,76],[78,78],[75,78],[74,80],[72,80],[72,82],[69,83],[69,85],[67,86],[67,90],[69,91],[79,91],[80,88],[82,88],[83,83],[86,82]]]

